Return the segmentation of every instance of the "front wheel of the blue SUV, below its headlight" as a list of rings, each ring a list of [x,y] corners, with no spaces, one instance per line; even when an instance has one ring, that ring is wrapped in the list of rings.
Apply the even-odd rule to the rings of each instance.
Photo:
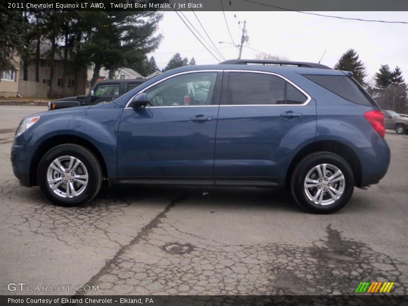
[[[37,180],[45,196],[62,206],[89,202],[99,192],[102,170],[95,155],[77,144],[50,149],[41,159]]]

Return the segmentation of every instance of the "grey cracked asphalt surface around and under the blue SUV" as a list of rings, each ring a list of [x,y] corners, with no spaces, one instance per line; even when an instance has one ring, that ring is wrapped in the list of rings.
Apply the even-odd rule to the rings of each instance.
[[[0,133],[37,109],[0,108]],[[352,294],[360,281],[407,294],[408,136],[386,134],[386,177],[333,215],[304,213],[280,188],[115,188],[56,207],[19,186],[12,137],[0,134],[0,294],[21,294],[7,290],[16,282],[98,286],[79,294]]]

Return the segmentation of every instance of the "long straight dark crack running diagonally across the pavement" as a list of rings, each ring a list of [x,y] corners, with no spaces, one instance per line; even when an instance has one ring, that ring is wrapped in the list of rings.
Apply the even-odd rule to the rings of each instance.
[[[105,274],[111,273],[112,267],[115,263],[120,259],[123,254],[129,250],[133,245],[139,243],[143,238],[147,237],[149,233],[151,233],[152,229],[157,227],[162,221],[162,219],[166,218],[166,214],[173,208],[176,203],[183,201],[189,196],[189,192],[182,192],[181,194],[177,195],[167,206],[166,208],[159,213],[154,219],[152,219],[148,224],[146,224],[141,231],[137,234],[135,238],[133,238],[129,244],[122,246],[115,254],[115,256],[108,260],[105,263],[105,266],[99,270],[98,273],[93,275],[91,279],[84,285],[84,286],[92,286],[96,285],[100,279]],[[83,286],[83,287],[84,287]],[[82,292],[78,292],[75,295],[82,295]]]

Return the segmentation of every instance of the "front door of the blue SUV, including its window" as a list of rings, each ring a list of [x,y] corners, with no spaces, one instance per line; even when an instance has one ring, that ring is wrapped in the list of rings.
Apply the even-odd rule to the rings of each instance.
[[[186,71],[143,89],[150,105],[127,105],[120,120],[119,180],[214,184],[221,78],[221,71]]]

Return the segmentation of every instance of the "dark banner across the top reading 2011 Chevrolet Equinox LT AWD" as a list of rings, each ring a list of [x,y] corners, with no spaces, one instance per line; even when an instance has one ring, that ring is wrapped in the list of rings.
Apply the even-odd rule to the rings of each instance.
[[[2,9],[13,11],[408,11],[407,0],[1,0],[1,3]]]

